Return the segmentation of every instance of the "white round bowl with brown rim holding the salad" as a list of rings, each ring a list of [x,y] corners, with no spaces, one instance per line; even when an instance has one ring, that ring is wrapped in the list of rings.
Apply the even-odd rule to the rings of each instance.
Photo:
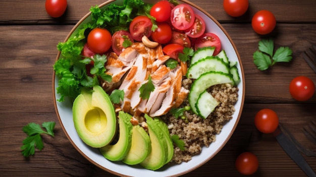
[[[106,8],[112,3],[122,4],[123,0],[118,1],[108,1],[100,5],[100,8]],[[145,1],[146,3],[154,4],[157,0],[153,1]],[[244,94],[245,94],[245,82],[244,82],[244,72],[241,64],[239,53],[234,45],[232,39],[225,31],[225,29],[220,25],[220,23],[215,20],[211,15],[209,15],[206,11],[197,7],[196,5],[186,1],[186,0],[178,0],[179,3],[189,4],[194,12],[200,15],[204,21],[206,22],[206,30],[205,32],[213,32],[219,36],[221,39],[222,49],[225,49],[226,54],[230,61],[237,61],[237,67],[240,76],[240,83],[238,84],[239,92],[238,92],[238,101],[235,104],[235,113],[233,114],[233,119],[226,123],[222,129],[222,132],[219,135],[216,135],[216,142],[210,144],[209,147],[203,147],[200,154],[195,155],[189,162],[182,162],[181,164],[173,164],[173,165],[165,165],[159,170],[148,170],[138,165],[129,166],[121,161],[113,162],[107,160],[102,156],[98,149],[92,148],[86,145],[79,138],[72,119],[72,103],[65,98],[64,102],[56,101],[60,98],[60,95],[57,93],[56,88],[58,87],[58,77],[53,74],[52,79],[52,87],[53,87],[53,97],[55,103],[55,109],[57,112],[58,119],[60,124],[70,140],[73,146],[91,163],[94,165],[109,171],[113,174],[120,176],[179,176],[185,173],[188,173],[199,166],[206,163],[208,160],[212,159],[228,142],[230,137],[232,136],[241,116],[243,104],[244,104]],[[91,20],[90,13],[85,15],[71,30],[69,35],[66,37],[65,41],[76,31],[77,28],[81,26],[81,24],[87,23]],[[58,60],[60,57],[60,52],[56,58]]]

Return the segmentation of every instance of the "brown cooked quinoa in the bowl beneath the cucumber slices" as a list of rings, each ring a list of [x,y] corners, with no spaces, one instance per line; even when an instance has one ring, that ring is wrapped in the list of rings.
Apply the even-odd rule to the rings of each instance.
[[[183,79],[182,85],[190,89],[191,79]],[[199,154],[203,146],[208,147],[210,143],[216,141],[216,135],[219,134],[225,122],[232,119],[235,112],[234,104],[238,100],[238,88],[230,84],[215,85],[207,89],[220,104],[206,118],[194,114],[191,110],[184,111],[186,120],[177,118],[171,114],[164,116],[168,125],[170,135],[178,135],[185,143],[185,150],[181,151],[178,147],[174,149],[174,156],[171,160],[176,163],[187,162],[192,156]],[[186,99],[181,107],[188,106]]]

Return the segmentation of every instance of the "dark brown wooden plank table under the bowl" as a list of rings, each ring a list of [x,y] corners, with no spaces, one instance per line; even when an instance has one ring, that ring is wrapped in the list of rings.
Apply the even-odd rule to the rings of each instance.
[[[52,65],[58,42],[64,41],[91,6],[103,1],[68,1],[62,18],[50,18],[45,1],[0,2],[0,176],[114,176],[80,155],[58,122],[52,98]],[[239,125],[226,146],[210,161],[185,176],[238,176],[234,166],[238,154],[254,153],[259,169],[253,176],[304,176],[271,134],[260,134],[254,115],[262,108],[274,109],[282,123],[306,148],[316,151],[303,134],[303,127],[315,120],[316,94],[308,101],[295,101],[289,93],[290,81],[305,75],[316,83],[316,74],[302,57],[316,44],[316,1],[249,1],[247,13],[228,16],[222,0],[192,0],[213,15],[226,29],[240,53],[245,72],[245,104]],[[251,17],[259,10],[274,13],[276,29],[260,36],[251,28]],[[293,50],[290,63],[276,64],[261,72],[252,54],[258,41],[271,37],[275,46]],[[44,149],[24,158],[20,147],[26,134],[23,126],[55,121],[55,138],[43,136]],[[316,158],[303,155],[316,170]]]

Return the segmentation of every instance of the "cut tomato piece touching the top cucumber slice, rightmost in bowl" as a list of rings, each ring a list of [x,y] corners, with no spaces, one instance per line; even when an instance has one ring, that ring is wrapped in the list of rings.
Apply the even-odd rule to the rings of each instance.
[[[208,46],[215,46],[215,51],[213,55],[217,55],[222,48],[220,38],[214,33],[204,33],[200,37],[196,38],[194,49],[197,50],[198,48],[208,47]]]

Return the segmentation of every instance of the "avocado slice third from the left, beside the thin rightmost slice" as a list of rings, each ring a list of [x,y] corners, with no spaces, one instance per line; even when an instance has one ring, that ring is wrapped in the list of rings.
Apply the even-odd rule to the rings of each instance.
[[[145,119],[148,125],[151,151],[139,164],[146,169],[156,170],[166,163],[168,156],[167,142],[162,129],[156,125],[153,119],[147,114],[145,114]]]

